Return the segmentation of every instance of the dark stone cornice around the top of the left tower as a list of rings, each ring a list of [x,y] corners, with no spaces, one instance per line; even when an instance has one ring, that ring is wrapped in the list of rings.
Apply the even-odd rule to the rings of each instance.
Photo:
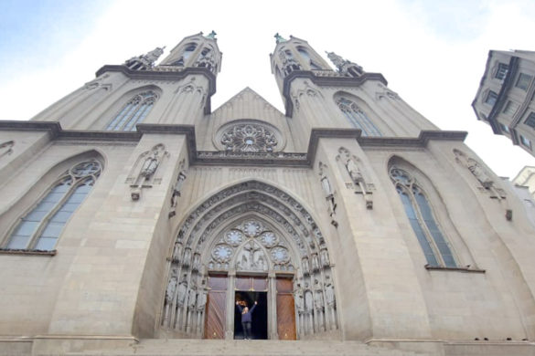
[[[120,72],[130,79],[137,80],[181,80],[188,75],[200,74],[205,76],[209,80],[209,92],[204,107],[204,113],[209,114],[211,112],[210,98],[216,92],[216,76],[209,70],[209,68],[203,67],[187,67],[179,71],[170,70],[132,70],[126,66],[118,65],[105,65],[97,70],[96,76],[99,77],[106,72]]]

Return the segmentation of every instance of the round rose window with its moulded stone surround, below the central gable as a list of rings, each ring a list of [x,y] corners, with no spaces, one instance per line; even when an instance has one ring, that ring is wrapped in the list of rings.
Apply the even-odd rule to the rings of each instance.
[[[214,143],[223,152],[273,153],[284,149],[282,133],[259,120],[237,120],[222,126]]]

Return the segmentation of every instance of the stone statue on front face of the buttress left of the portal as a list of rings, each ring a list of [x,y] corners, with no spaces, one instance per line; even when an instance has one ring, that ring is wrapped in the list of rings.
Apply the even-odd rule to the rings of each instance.
[[[134,175],[131,175],[126,180],[132,182],[131,197],[136,201],[141,198],[141,191],[143,188],[151,188],[155,183],[155,173],[163,162],[164,158],[169,155],[166,152],[166,147],[163,144],[157,144],[150,152],[144,152],[134,165]]]

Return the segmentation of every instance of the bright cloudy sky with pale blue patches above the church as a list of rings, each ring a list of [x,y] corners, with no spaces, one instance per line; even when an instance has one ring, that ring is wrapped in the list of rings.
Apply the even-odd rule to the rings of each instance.
[[[477,121],[471,102],[488,50],[535,49],[533,18],[532,0],[0,0],[0,120],[29,120],[104,64],[163,46],[165,58],[212,29],[223,52],[212,110],[250,87],[284,112],[269,61],[278,32],[382,73],[412,108],[468,131],[483,162],[514,178],[535,158]]]

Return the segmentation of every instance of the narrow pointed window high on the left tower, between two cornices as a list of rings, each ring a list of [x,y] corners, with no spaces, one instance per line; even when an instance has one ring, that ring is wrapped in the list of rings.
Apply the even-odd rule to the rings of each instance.
[[[135,125],[143,122],[153,109],[158,96],[153,90],[144,91],[130,99],[106,127],[106,131],[135,131]]]

